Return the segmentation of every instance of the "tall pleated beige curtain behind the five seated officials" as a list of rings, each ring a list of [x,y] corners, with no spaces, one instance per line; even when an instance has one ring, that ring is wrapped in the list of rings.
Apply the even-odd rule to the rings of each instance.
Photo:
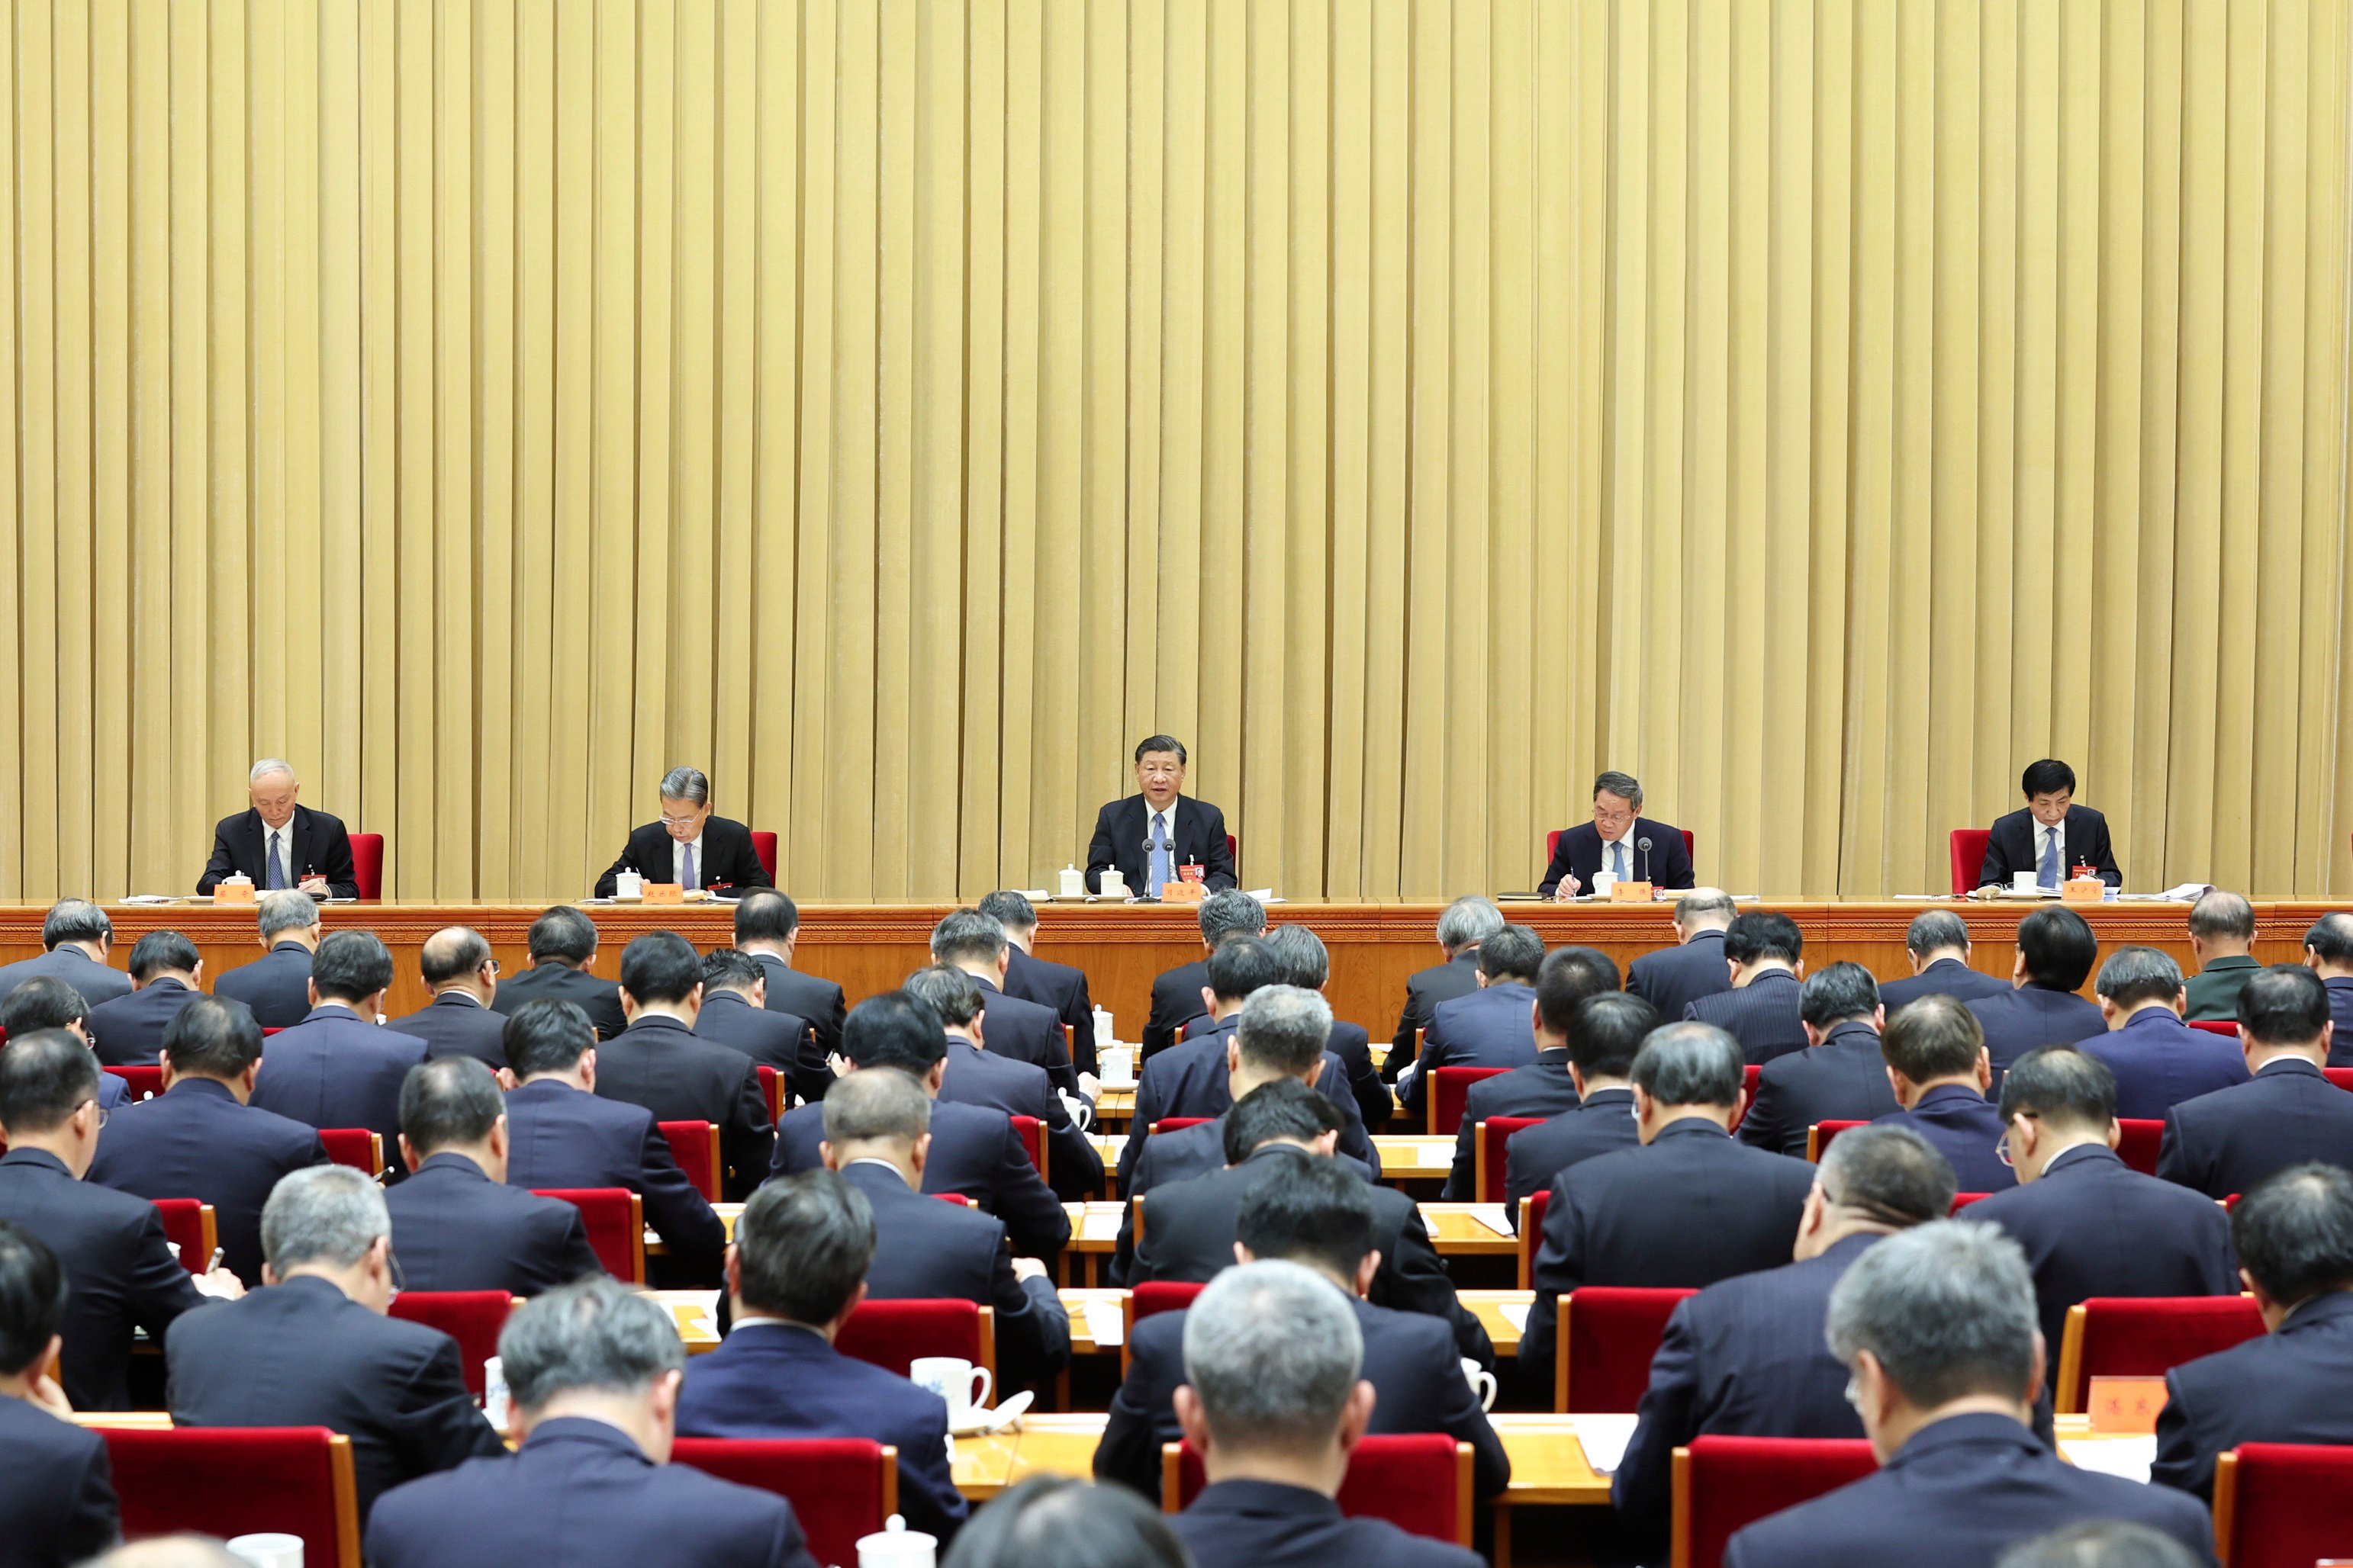
[[[2346,0],[0,5],[0,896],[2353,889]]]

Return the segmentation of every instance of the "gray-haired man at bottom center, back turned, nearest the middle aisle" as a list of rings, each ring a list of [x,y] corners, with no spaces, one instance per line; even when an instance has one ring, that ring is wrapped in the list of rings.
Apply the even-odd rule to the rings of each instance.
[[[1372,1429],[1365,1331],[1297,1262],[1219,1274],[1186,1312],[1176,1425],[1207,1486],[1169,1521],[1200,1568],[1478,1568],[1466,1547],[1346,1519],[1348,1450]]]

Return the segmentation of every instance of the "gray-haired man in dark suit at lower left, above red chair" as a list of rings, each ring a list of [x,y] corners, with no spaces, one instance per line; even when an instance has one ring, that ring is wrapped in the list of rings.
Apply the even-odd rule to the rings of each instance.
[[[285,1178],[261,1211],[261,1251],[268,1288],[172,1326],[174,1427],[341,1432],[362,1521],[391,1486],[506,1453],[466,1392],[456,1340],[386,1316],[393,1222],[372,1180],[351,1166]]]

